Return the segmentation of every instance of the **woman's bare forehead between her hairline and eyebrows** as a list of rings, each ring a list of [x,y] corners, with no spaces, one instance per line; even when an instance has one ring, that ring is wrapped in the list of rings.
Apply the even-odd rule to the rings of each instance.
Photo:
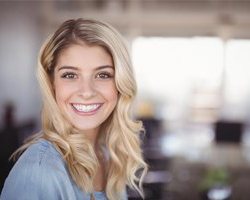
[[[113,65],[109,52],[102,46],[72,44],[58,56],[57,65],[101,66]]]

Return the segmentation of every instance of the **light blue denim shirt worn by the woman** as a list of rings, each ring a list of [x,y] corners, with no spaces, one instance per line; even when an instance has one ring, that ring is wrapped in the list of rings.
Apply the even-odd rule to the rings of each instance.
[[[94,192],[94,197],[107,200],[104,192]],[[75,184],[52,143],[41,139],[18,159],[5,180],[0,199],[90,200],[91,195]]]

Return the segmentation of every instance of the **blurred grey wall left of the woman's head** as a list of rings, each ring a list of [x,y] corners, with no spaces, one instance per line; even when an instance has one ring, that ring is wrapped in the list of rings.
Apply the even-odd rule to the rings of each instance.
[[[39,14],[38,2],[0,2],[0,116],[12,102],[20,123],[37,120],[40,112],[35,77],[42,39]]]

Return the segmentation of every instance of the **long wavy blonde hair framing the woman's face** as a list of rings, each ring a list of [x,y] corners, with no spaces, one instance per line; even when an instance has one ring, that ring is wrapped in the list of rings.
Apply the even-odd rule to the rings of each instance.
[[[109,153],[106,195],[108,199],[121,198],[126,185],[142,196],[142,179],[147,171],[143,160],[140,137],[141,122],[133,120],[131,106],[136,95],[136,82],[130,56],[120,34],[110,25],[95,20],[65,21],[49,38],[40,52],[38,80],[43,94],[42,135],[35,136],[22,148],[40,137],[51,141],[63,155],[76,184],[85,192],[94,192],[93,177],[98,159],[93,146],[83,134],[77,134],[59,110],[53,91],[53,73],[60,53],[72,44],[98,45],[112,56],[115,83],[118,90],[117,105],[103,123],[98,138]]]

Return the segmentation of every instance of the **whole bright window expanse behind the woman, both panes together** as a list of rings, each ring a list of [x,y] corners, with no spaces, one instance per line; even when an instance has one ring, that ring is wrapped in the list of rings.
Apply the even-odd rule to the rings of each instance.
[[[167,111],[162,106],[160,110],[175,119],[185,117],[185,111],[190,117],[187,109],[195,107],[192,103],[220,112],[193,110],[205,120],[246,119],[250,116],[249,52],[250,40],[138,37],[132,44],[132,59],[139,98],[167,105]]]

